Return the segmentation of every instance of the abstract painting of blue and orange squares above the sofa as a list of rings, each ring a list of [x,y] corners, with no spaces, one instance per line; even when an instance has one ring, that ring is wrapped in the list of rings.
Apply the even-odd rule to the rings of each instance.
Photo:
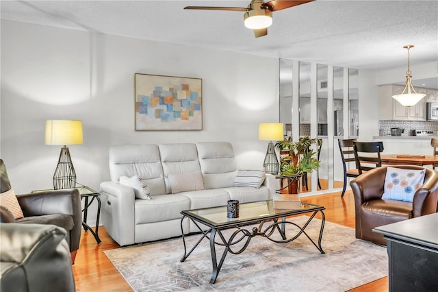
[[[203,130],[202,79],[135,74],[136,131]]]

